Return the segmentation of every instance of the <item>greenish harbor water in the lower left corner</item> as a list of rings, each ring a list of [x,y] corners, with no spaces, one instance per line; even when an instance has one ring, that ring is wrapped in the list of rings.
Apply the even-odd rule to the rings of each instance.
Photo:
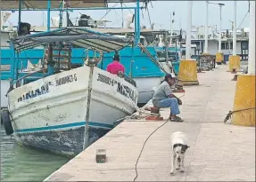
[[[1,181],[43,181],[69,160],[17,145],[1,124]]]

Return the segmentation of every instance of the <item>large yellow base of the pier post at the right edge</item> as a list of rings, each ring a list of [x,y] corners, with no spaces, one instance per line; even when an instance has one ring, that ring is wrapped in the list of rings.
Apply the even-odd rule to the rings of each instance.
[[[238,75],[233,111],[255,107],[255,75]],[[236,112],[231,123],[240,126],[255,126],[255,108]]]

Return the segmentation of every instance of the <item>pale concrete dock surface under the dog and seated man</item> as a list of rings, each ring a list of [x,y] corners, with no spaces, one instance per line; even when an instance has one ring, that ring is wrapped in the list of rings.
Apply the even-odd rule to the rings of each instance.
[[[233,110],[234,77],[227,66],[198,74],[198,86],[185,87],[180,107],[184,123],[166,123],[145,144],[136,181],[255,181],[255,128],[223,123]],[[169,108],[161,109],[164,119]],[[165,122],[165,121],[163,121]],[[127,121],[56,170],[45,181],[133,181],[145,139],[162,123]],[[185,172],[170,175],[170,135],[186,132]],[[96,163],[97,149],[107,162]]]

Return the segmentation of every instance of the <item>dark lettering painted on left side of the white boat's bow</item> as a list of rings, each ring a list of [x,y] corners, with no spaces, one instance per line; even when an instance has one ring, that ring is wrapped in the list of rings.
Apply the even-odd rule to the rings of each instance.
[[[31,99],[31,98],[37,98],[37,96],[44,95],[44,94],[50,92],[49,85],[60,86],[60,85],[63,85],[63,84],[76,82],[77,80],[78,80],[78,78],[77,78],[76,74],[74,74],[74,75],[65,75],[65,76],[62,76],[61,78],[56,78],[55,79],[55,85],[52,82],[45,83],[41,87],[39,87],[39,88],[37,88],[33,91],[28,91],[27,93],[23,94],[18,99],[18,102],[21,102],[23,100],[28,100],[28,99]]]

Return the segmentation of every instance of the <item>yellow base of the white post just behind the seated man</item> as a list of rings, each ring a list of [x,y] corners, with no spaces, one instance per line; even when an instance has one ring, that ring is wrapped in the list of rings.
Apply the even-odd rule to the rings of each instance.
[[[178,70],[178,82],[184,85],[198,85],[197,65],[194,59],[181,60]]]

